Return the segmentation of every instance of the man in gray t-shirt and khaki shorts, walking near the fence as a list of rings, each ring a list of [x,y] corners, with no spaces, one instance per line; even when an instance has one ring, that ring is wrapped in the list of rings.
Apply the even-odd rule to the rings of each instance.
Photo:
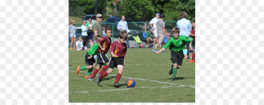
[[[160,44],[162,44],[162,46],[164,46],[164,35],[166,34],[165,22],[163,21],[164,18],[165,18],[165,15],[161,14],[160,20],[158,20],[156,23],[159,42],[157,43],[156,47],[152,50],[154,53],[156,52],[156,50],[160,46]],[[165,38],[166,38],[166,36],[165,36]],[[167,51],[163,51],[163,53],[166,53],[166,52]]]

